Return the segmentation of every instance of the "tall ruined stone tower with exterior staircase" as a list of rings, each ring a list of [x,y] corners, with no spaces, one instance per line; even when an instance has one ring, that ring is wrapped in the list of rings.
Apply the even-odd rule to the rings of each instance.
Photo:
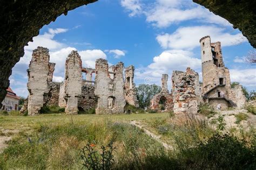
[[[203,73],[203,97],[214,108],[242,108],[246,102],[241,86],[231,88],[230,72],[225,67],[220,42],[211,43],[210,36],[200,39]]]

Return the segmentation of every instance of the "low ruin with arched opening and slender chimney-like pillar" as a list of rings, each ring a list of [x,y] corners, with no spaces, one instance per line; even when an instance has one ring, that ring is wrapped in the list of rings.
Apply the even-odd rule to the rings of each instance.
[[[173,97],[169,94],[168,87],[168,75],[163,74],[161,78],[161,91],[155,95],[150,101],[150,109],[158,111],[172,111],[173,110]]]

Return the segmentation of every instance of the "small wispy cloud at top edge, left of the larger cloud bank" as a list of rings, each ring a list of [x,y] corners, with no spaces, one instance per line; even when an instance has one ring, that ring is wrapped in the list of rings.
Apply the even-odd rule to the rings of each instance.
[[[142,13],[142,4],[139,0],[121,0],[121,5],[129,11],[129,16],[134,17]]]

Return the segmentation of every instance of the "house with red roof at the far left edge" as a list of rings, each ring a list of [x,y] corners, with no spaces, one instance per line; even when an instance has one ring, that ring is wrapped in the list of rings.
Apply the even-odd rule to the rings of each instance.
[[[7,89],[7,94],[2,102],[3,107],[0,110],[5,111],[17,111],[19,108],[19,96],[17,96],[14,91],[9,87]]]

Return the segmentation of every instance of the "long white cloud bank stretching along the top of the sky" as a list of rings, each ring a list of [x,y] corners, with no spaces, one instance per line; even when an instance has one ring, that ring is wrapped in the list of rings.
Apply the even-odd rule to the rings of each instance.
[[[130,12],[129,16],[144,14],[146,22],[156,27],[167,27],[191,19],[197,19],[201,23],[231,25],[226,19],[189,0],[157,0],[147,4],[139,0],[122,0],[121,5]]]

